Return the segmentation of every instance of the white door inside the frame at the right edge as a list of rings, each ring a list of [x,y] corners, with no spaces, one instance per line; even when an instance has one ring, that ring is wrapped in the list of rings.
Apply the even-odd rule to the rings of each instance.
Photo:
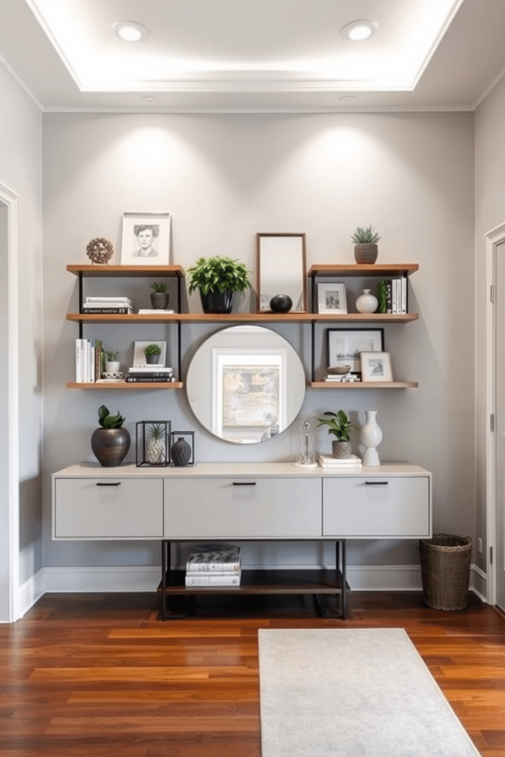
[[[505,240],[496,245],[496,603],[505,611]]]

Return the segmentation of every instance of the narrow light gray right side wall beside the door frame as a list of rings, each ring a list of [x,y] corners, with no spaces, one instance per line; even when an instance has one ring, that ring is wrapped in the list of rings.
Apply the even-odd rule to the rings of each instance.
[[[475,366],[476,366],[476,535],[485,548],[479,565],[486,569],[486,459],[488,428],[485,384],[485,336],[488,290],[485,233],[505,223],[505,78],[485,98],[475,114]]]

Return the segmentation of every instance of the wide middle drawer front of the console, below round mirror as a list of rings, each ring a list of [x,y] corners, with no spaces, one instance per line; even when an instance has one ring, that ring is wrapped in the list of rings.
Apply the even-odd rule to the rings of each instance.
[[[320,479],[165,478],[164,535],[320,538]]]

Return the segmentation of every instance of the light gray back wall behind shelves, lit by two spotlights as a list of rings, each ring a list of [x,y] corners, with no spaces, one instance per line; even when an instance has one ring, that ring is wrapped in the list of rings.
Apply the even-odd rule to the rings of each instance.
[[[351,232],[368,223],[382,235],[379,262],[419,263],[410,291],[419,321],[385,332],[394,375],[419,381],[419,389],[308,390],[300,420],[342,407],[363,422],[364,410],[378,410],[381,458],[410,459],[434,473],[435,532],[473,535],[472,114],[45,114],[43,132],[45,565],[159,559],[158,547],[146,544],[51,542],[49,473],[92,459],[89,438],[102,402],[126,416],[132,434],[137,420],[153,417],[195,429],[200,460],[294,459],[297,449],[298,424],[261,445],[217,441],[198,425],[183,391],[65,389],[77,336],[65,320],[76,309],[76,279],[65,266],[87,262],[95,236],[119,247],[123,211],[170,211],[173,262],[184,268],[201,255],[226,254],[254,269],[258,231],[306,232],[308,267],[352,263]],[[239,307],[249,309],[247,298]],[[190,308],[200,308],[195,296]],[[279,331],[301,348],[308,375],[310,327]],[[187,363],[205,329],[183,332]],[[86,335],[114,344],[127,362],[134,339],[164,333],[117,326]],[[322,343],[323,329],[318,335]],[[168,338],[173,344],[175,332]],[[317,442],[329,450],[323,429]],[[256,559],[273,562],[264,551]],[[282,561],[301,559],[286,550]],[[360,561],[415,564],[417,546],[356,542],[350,562]]]

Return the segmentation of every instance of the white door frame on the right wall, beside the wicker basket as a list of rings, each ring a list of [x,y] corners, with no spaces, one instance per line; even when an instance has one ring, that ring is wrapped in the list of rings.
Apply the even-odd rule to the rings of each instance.
[[[486,599],[496,604],[496,434],[491,431],[491,416],[496,428],[496,308],[491,287],[496,287],[496,248],[505,241],[505,223],[485,233],[486,240]],[[493,562],[490,561],[491,549]]]

